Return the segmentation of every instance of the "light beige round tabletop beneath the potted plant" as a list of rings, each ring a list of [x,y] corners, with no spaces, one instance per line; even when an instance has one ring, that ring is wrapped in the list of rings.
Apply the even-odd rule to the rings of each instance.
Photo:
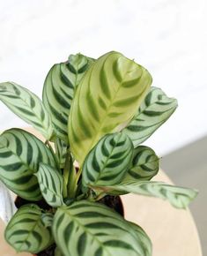
[[[155,180],[172,183],[163,171]],[[134,194],[122,196],[125,217],[137,222],[151,237],[153,256],[202,256],[196,224],[189,210],[172,207],[168,202]],[[28,256],[15,253],[4,241],[0,220],[1,256]]]

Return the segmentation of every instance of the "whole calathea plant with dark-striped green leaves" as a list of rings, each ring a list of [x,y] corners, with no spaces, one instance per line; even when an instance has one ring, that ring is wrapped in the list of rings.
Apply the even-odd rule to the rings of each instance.
[[[143,66],[118,52],[55,64],[42,102],[13,82],[0,84],[1,101],[45,138],[17,128],[0,136],[0,179],[27,202],[4,235],[18,252],[47,255],[53,245],[56,256],[152,255],[144,230],[102,203],[132,192],[185,208],[196,197],[151,181],[159,157],[140,144],[177,107],[151,84]]]

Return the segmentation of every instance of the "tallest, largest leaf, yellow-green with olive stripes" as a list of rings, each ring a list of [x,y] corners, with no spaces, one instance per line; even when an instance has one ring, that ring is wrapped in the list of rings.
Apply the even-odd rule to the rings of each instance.
[[[90,66],[69,117],[71,153],[80,166],[101,137],[134,117],[151,83],[144,67],[118,52],[100,56]]]

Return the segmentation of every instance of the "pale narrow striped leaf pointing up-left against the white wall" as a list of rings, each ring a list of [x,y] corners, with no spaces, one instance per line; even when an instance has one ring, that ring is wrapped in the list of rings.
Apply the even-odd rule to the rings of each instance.
[[[53,133],[52,121],[37,95],[15,83],[0,84],[0,100],[26,123],[32,124],[46,138]]]

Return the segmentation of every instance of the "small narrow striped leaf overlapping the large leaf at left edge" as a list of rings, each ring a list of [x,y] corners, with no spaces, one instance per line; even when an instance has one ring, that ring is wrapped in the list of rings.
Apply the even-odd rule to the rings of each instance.
[[[40,163],[36,173],[40,184],[43,198],[51,207],[61,207],[63,203],[63,177],[62,175],[48,164]]]

